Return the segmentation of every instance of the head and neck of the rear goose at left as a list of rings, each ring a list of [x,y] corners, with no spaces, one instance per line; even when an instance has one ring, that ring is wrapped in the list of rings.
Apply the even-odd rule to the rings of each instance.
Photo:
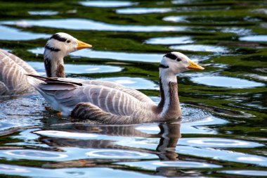
[[[47,77],[65,77],[63,58],[79,49],[91,47],[91,44],[79,41],[70,34],[63,32],[53,34],[44,47],[44,65]]]

